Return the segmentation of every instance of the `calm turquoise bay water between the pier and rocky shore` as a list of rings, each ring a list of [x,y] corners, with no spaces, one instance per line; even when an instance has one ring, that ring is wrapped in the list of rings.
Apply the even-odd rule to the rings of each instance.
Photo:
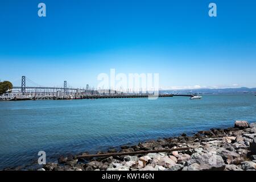
[[[254,95],[0,102],[0,169],[256,121]]]

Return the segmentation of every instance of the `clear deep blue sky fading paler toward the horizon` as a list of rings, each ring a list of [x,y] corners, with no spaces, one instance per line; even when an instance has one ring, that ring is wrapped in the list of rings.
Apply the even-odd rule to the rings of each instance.
[[[256,87],[255,0],[9,0],[0,27],[0,78],[18,86],[97,86],[115,68],[162,88]]]

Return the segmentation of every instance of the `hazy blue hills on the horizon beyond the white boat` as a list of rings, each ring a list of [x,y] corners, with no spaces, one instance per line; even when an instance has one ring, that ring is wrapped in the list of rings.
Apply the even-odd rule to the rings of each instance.
[[[255,93],[256,88],[225,88],[225,89],[183,89],[183,90],[161,90],[160,93],[200,93],[200,94],[235,94],[235,93]]]

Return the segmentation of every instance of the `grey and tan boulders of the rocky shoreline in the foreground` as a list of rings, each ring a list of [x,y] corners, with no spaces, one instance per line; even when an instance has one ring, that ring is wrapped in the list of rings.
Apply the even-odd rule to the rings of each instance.
[[[61,156],[38,171],[255,171],[256,123],[236,121],[228,129],[199,131],[193,136],[150,140],[135,146],[121,146],[118,152],[163,150],[189,147],[185,151],[146,155],[110,156],[84,160]],[[117,152],[110,149],[108,152]],[[100,153],[100,152],[99,152]],[[86,154],[86,153],[84,153]],[[102,154],[102,152],[101,152]],[[8,169],[7,169],[8,170]]]

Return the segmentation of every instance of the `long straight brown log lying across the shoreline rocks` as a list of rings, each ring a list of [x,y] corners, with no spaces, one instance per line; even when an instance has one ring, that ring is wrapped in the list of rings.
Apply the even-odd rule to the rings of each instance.
[[[190,149],[189,147],[183,147],[183,148],[172,148],[172,149],[162,149],[162,150],[143,150],[143,151],[135,151],[135,152],[87,154],[87,155],[77,155],[76,158],[102,158],[102,157],[110,157],[110,156],[137,155],[137,154],[148,154],[148,153],[159,153],[159,152],[173,152],[173,151],[182,151],[182,150],[189,150],[189,149]]]

